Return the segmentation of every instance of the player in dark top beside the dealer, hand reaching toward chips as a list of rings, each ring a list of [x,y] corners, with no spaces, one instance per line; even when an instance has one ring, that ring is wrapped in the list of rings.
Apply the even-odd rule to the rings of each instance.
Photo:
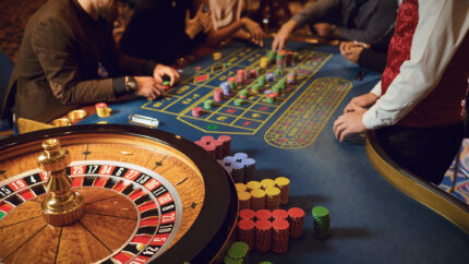
[[[291,33],[306,23],[321,37],[380,44],[392,34],[397,0],[317,0],[285,23],[272,44],[285,49]]]

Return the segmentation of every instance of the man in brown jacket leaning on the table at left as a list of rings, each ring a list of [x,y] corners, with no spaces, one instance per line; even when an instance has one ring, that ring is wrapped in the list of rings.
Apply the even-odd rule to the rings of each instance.
[[[29,19],[10,79],[2,116],[41,120],[80,105],[128,94],[156,99],[167,65],[122,55],[112,37],[117,0],[49,0]],[[100,79],[101,63],[113,77]]]

